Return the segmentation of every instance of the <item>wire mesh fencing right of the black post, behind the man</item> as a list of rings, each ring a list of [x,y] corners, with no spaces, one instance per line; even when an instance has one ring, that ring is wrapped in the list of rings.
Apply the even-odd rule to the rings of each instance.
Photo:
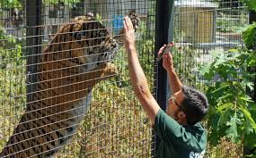
[[[204,90],[207,81],[200,75],[199,66],[213,61],[216,53],[228,54],[230,49],[243,46],[240,29],[249,24],[248,12],[241,1],[231,0],[176,0],[174,5],[175,68],[184,84]],[[242,154],[242,145],[223,139],[218,146],[208,146],[205,157]]]

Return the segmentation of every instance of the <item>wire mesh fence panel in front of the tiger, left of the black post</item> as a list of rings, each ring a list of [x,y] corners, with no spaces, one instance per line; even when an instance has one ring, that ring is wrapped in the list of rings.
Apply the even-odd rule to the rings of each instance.
[[[120,31],[136,11],[154,91],[155,2],[31,2],[0,1],[1,157],[150,157],[151,126],[129,84]],[[74,21],[86,13],[95,20]]]

